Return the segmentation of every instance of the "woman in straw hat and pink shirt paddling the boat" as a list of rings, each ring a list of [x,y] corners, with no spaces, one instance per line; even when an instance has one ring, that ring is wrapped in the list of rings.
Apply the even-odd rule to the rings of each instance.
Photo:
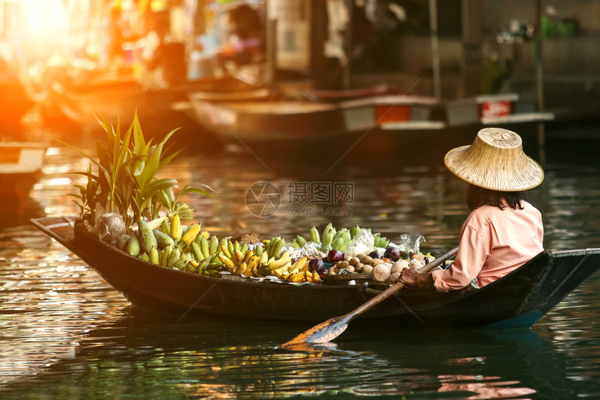
[[[541,213],[524,192],[541,183],[543,170],[523,153],[518,134],[482,129],[471,146],[449,151],[444,164],[470,184],[471,213],[460,230],[456,259],[446,270],[424,274],[405,268],[396,282],[440,292],[483,287],[543,251]]]

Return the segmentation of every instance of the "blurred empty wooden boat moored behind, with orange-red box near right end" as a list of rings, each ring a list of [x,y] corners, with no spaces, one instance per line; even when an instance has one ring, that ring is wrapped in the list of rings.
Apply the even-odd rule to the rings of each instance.
[[[433,98],[373,95],[340,102],[301,99],[215,102],[189,95],[193,118],[232,150],[282,153],[333,148],[346,151],[369,132],[444,128],[436,121]],[[386,145],[375,138],[381,149]]]

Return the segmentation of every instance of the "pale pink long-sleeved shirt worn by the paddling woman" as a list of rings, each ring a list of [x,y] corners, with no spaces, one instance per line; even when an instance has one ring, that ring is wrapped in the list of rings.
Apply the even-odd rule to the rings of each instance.
[[[432,272],[435,290],[463,289],[477,277],[479,287],[507,275],[543,250],[541,213],[527,201],[523,210],[481,206],[460,230],[456,259]]]

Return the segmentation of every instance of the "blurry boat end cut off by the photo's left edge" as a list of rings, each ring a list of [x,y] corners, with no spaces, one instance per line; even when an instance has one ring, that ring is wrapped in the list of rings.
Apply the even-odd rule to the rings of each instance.
[[[0,140],[0,199],[20,200],[42,177],[45,146]]]

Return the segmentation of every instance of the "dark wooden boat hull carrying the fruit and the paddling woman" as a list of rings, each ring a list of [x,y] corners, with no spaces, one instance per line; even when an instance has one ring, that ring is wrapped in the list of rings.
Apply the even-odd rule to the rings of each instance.
[[[315,323],[343,315],[369,298],[365,284],[256,282],[169,270],[129,256],[80,229],[74,218],[32,220],[96,270],[134,305],[167,311]],[[600,268],[600,249],[545,251],[511,274],[474,291],[406,292],[357,321],[398,327],[527,328]]]

